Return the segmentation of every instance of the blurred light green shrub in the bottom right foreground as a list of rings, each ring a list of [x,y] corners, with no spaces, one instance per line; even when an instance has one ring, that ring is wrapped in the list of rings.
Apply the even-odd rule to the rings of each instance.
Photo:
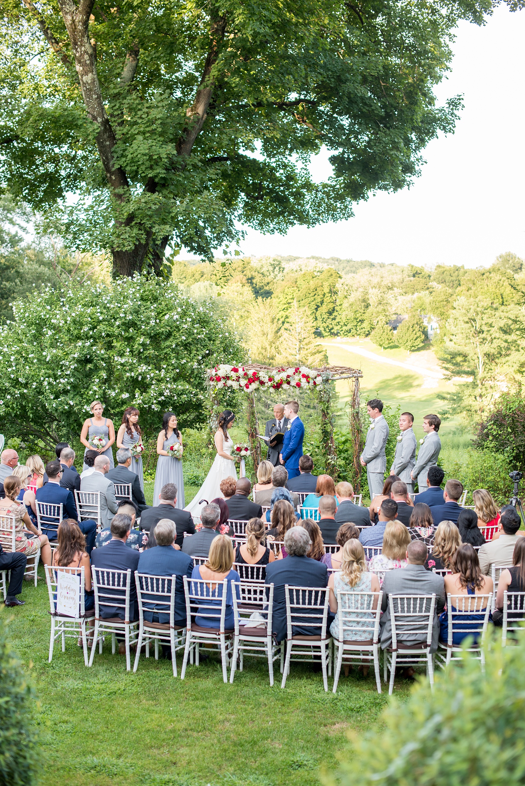
[[[436,675],[433,693],[424,681],[412,690],[408,702],[394,700],[372,732],[353,736],[353,755],[343,759],[338,783],[523,784],[524,658],[525,639],[505,649],[493,641],[485,675],[479,661],[466,658],[460,667]]]

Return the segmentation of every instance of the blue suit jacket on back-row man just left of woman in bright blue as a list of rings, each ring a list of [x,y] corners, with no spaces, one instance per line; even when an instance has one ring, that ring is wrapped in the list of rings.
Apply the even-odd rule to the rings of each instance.
[[[186,601],[184,600],[183,575],[191,578],[193,571],[193,560],[182,551],[177,551],[172,545],[156,545],[153,549],[146,549],[139,555],[139,573],[149,573],[151,576],[172,576],[176,575],[175,582],[175,624],[186,625]],[[168,582],[168,591],[172,590],[172,582]],[[144,601],[142,596],[142,601]],[[147,596],[146,596],[147,597]],[[152,611],[146,611],[144,604],[144,619],[149,623],[153,622],[154,604],[150,604]],[[166,606],[159,608],[165,609]],[[160,623],[169,622],[169,614],[159,614]]]

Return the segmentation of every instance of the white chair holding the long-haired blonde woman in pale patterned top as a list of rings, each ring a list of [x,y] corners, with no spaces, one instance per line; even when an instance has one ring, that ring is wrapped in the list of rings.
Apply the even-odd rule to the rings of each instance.
[[[374,619],[369,619],[374,599],[377,607]],[[381,675],[379,673],[379,619],[381,619],[382,592],[346,592],[337,593],[337,614],[339,623],[339,639],[334,639],[337,660],[335,662],[334,693],[337,692],[339,674],[343,663],[368,665],[374,663],[375,684],[377,692],[381,692]],[[358,638],[356,638],[356,636]]]

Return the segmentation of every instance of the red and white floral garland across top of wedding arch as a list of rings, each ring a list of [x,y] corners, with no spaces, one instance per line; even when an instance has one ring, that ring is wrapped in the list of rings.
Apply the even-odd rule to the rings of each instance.
[[[209,385],[215,390],[219,387],[233,387],[234,390],[251,393],[261,387],[274,390],[284,388],[317,387],[323,382],[322,376],[307,369],[305,365],[294,369],[272,369],[272,371],[249,371],[243,365],[216,365],[209,371]]]

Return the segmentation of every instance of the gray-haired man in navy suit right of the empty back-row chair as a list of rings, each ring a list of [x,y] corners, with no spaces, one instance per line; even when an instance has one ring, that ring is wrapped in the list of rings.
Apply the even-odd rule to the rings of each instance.
[[[284,505],[284,502],[278,503]],[[290,512],[293,512],[290,506]],[[286,560],[275,560],[266,568],[264,583],[273,584],[273,617],[272,632],[276,641],[287,637],[287,601],[285,586],[325,587],[328,582],[327,566],[322,562],[311,560],[309,556],[310,536],[304,527],[291,527],[284,536]],[[268,595],[268,589],[266,590]],[[329,617],[329,624],[331,618]],[[319,636],[321,629],[313,627],[301,628],[294,626],[292,634]]]

